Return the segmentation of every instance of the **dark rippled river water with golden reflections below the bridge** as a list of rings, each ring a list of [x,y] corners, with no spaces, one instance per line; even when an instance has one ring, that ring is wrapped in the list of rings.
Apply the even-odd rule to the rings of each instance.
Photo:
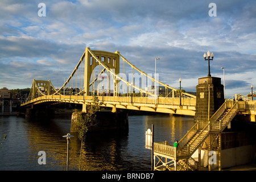
[[[82,170],[150,170],[151,150],[144,147],[145,132],[154,124],[155,142],[181,139],[193,126],[193,117],[181,115],[130,115],[129,133],[88,134],[82,147]],[[71,115],[54,119],[0,116],[0,170],[63,171],[67,162],[67,139]],[[6,139],[2,136],[6,135]],[[69,143],[69,170],[79,170],[81,142],[76,133]],[[39,164],[46,152],[46,164]],[[41,160],[42,161],[42,160]]]

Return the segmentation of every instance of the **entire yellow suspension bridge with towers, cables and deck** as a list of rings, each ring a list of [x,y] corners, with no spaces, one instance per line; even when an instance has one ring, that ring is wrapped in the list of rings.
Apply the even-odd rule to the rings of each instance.
[[[60,89],[55,89],[50,80],[34,80],[30,95],[21,106],[69,102],[82,104],[82,111],[86,112],[86,105],[92,102],[93,96],[98,96],[102,106],[112,107],[113,112],[119,108],[195,115],[196,96],[184,92],[177,97],[180,94],[176,90],[179,89],[160,82],[157,75],[153,77],[135,67],[118,51],[92,51],[86,47]]]

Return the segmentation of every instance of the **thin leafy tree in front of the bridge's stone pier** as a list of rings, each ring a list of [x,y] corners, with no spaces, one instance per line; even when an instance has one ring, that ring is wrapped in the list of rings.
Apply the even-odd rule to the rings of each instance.
[[[80,170],[81,170],[81,157],[82,157],[82,145],[86,137],[87,131],[92,127],[97,125],[96,112],[100,111],[102,102],[99,102],[97,96],[93,96],[93,100],[90,105],[86,106],[86,113],[81,112],[77,116],[77,127],[79,133],[79,139],[81,140],[80,149]]]

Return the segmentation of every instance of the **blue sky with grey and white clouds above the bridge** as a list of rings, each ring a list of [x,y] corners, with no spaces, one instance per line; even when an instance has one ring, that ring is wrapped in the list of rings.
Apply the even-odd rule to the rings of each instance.
[[[90,47],[118,50],[145,73],[159,57],[159,80],[178,88],[181,77],[194,92],[209,50],[211,75],[223,82],[225,68],[226,97],[256,89],[255,0],[1,0],[0,17],[0,88],[30,88],[34,78],[58,88]]]

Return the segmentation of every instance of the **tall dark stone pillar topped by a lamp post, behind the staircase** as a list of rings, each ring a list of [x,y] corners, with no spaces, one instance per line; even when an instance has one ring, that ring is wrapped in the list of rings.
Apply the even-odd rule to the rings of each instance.
[[[218,77],[203,77],[198,79],[199,84],[196,86],[196,113],[195,122],[199,121],[200,126],[207,125],[210,122],[212,115],[225,102],[224,86],[221,84],[221,78]],[[208,169],[221,169],[221,131],[210,132],[208,139],[199,147],[199,166],[201,166],[201,151],[204,151],[203,165],[208,166]],[[215,155],[216,161],[209,163],[210,155]]]

